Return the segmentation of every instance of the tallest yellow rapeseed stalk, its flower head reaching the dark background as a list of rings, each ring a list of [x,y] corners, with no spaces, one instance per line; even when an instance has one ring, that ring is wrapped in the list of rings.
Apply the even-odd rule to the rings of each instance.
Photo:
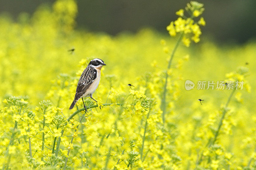
[[[179,34],[179,38],[172,50],[172,53],[170,54],[169,63],[165,73],[164,90],[163,90],[162,101],[161,101],[161,109],[163,111],[162,113],[163,122],[165,121],[165,113],[166,113],[166,94],[167,94],[167,85],[168,85],[168,78],[169,78],[168,71],[171,68],[173,57],[181,41],[186,47],[189,47],[191,40],[194,41],[195,43],[198,43],[200,41],[199,36],[202,34],[202,32],[200,30],[199,25],[204,26],[205,21],[204,21],[204,18],[202,17],[197,22],[195,22],[193,19],[200,16],[204,12],[203,6],[204,4],[200,4],[196,1],[191,1],[190,3],[187,4],[185,8],[185,10],[189,14],[189,17],[186,17],[184,15],[183,9],[180,9],[178,12],[176,12],[176,15],[180,17],[174,22],[172,21],[170,25],[167,26],[166,28],[172,37],[175,37],[177,34]]]

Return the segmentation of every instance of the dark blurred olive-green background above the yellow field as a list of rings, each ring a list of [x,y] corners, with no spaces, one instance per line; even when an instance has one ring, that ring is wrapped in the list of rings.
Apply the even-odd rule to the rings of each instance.
[[[52,6],[53,0],[1,0],[0,13],[17,19],[20,12],[33,14],[39,5]],[[76,28],[116,35],[151,27],[167,35],[166,26],[188,0],[77,0]],[[256,36],[255,0],[201,0],[206,26],[204,35],[220,43],[245,43]]]

